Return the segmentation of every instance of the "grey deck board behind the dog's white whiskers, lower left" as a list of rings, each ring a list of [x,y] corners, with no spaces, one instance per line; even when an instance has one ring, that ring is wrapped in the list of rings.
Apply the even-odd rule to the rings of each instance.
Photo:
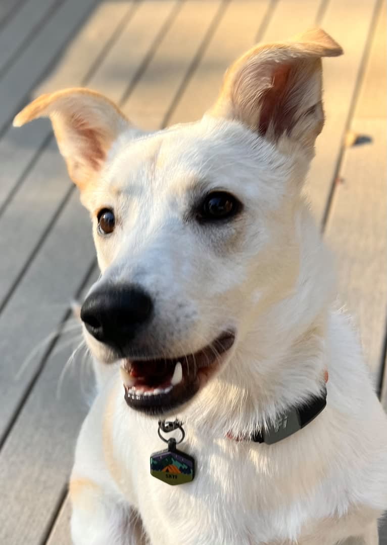
[[[96,277],[93,270],[87,287]],[[44,541],[58,501],[66,491],[73,460],[73,438],[94,397],[90,364],[85,361],[87,367],[83,373],[79,372],[82,352],[64,369],[69,348],[61,350],[61,343],[67,346],[70,340],[71,353],[82,339],[81,324],[75,319],[67,320],[67,323],[74,322],[75,331],[65,335],[48,357],[34,395],[24,403],[1,452],[0,486],[5,490],[0,514],[1,543],[17,545],[28,541],[29,545],[38,545]],[[36,429],[38,421],[39,429]],[[17,511],[20,498],[23,498],[23,510],[15,518],[11,513]]]

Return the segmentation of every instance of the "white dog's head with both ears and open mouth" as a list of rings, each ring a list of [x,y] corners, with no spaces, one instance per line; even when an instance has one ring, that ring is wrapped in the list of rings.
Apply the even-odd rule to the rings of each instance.
[[[255,47],[199,122],[152,134],[87,89],[41,96],[15,118],[51,118],[90,211],[102,277],[82,307],[85,336],[97,359],[121,360],[132,407],[187,402],[293,289],[321,57],[340,53],[321,30]]]

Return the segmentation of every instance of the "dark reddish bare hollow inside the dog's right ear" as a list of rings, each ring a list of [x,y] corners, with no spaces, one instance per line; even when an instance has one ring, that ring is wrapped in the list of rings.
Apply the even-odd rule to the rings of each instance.
[[[272,87],[262,95],[258,130],[265,135],[269,126],[278,137],[290,128],[293,112],[286,102],[292,64],[282,64],[273,72]]]

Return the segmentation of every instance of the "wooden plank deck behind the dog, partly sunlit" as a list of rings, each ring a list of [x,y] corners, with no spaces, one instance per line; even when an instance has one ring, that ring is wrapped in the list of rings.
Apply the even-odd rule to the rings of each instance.
[[[145,128],[193,120],[239,53],[316,24],[346,54],[324,60],[308,192],[387,408],[385,2],[0,0],[0,543],[70,543],[66,480],[90,387],[82,356],[63,377],[79,333],[69,305],[97,275],[50,123],[15,130],[14,114],[82,85]]]

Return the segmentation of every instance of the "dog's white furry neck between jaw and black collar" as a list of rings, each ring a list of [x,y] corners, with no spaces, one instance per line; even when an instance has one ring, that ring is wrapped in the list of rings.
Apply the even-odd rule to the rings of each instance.
[[[251,434],[324,389],[333,278],[329,254],[305,209],[301,221],[294,289],[257,312],[232,361],[187,410],[198,427],[211,422],[211,434]]]

